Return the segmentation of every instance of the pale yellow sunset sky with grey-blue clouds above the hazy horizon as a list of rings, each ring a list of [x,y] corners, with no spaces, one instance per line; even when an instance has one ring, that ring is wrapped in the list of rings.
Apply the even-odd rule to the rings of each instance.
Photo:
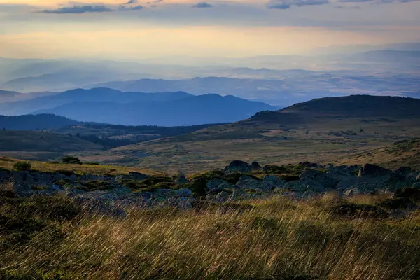
[[[419,0],[0,0],[0,57],[302,55],[419,41]]]

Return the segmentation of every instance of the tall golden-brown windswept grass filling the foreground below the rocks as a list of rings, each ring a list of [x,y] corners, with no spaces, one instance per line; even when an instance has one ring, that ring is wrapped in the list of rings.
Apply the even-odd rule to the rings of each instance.
[[[80,214],[4,250],[0,278],[420,277],[419,211],[404,219],[368,218],[363,209],[340,214],[341,204],[332,195],[301,202],[274,197],[200,211],[130,209],[123,219]],[[52,242],[57,228],[64,236]]]

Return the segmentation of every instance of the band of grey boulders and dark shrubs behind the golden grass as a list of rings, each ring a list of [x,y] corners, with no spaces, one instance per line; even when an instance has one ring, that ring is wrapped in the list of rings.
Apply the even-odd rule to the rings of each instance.
[[[252,172],[252,169],[258,171]],[[191,207],[196,199],[204,198],[214,203],[272,195],[300,200],[328,190],[339,195],[356,195],[382,191],[398,193],[407,189],[405,195],[409,195],[410,191],[420,189],[419,179],[419,172],[408,167],[392,172],[376,165],[335,167],[302,162],[301,165],[267,165],[260,169],[256,162],[248,165],[239,160],[231,162],[224,171],[217,169],[193,176],[191,182],[182,175],[148,176],[138,172],[120,176],[80,176],[73,172],[0,170],[0,181],[11,186],[7,194],[10,197],[64,195],[85,205],[94,214],[114,216],[124,216],[127,207],[184,209]]]

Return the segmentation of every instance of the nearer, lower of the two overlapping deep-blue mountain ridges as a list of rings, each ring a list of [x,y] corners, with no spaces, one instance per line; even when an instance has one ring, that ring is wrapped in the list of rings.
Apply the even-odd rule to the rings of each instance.
[[[176,97],[181,95],[186,95],[186,93],[173,93]],[[251,102],[234,96],[221,97],[218,94],[199,96],[188,94],[185,98],[177,99],[169,98],[169,96],[165,101],[160,97],[148,100],[142,98],[130,103],[75,102],[34,113],[53,113],[74,120],[97,123],[179,126],[231,123],[249,118],[258,111],[275,109],[268,104]]]

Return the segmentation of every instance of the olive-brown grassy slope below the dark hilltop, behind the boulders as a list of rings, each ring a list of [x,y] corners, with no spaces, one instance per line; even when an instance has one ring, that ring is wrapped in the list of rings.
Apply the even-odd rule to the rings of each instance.
[[[419,136],[417,120],[344,118],[293,126],[248,120],[115,148],[87,155],[85,160],[185,173],[224,167],[238,159],[256,160],[261,165],[295,164],[309,160],[322,164],[387,163],[388,167],[398,168],[409,162],[393,162],[379,156],[372,158],[370,152],[395,141]]]

